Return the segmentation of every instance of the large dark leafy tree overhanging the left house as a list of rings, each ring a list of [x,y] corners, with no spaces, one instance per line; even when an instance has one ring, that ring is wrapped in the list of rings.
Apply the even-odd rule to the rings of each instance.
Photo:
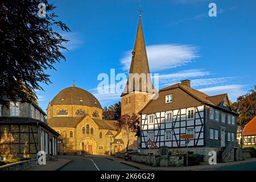
[[[46,6],[39,11],[39,4]],[[43,7],[43,6],[42,6]],[[52,12],[56,7],[47,0],[2,0],[0,2],[0,104],[5,99],[35,101],[35,90],[43,90],[40,83],[49,84],[46,69],[65,56],[67,49],[58,32],[70,31]],[[39,13],[39,14],[38,14]],[[54,30],[56,31],[54,31]]]

